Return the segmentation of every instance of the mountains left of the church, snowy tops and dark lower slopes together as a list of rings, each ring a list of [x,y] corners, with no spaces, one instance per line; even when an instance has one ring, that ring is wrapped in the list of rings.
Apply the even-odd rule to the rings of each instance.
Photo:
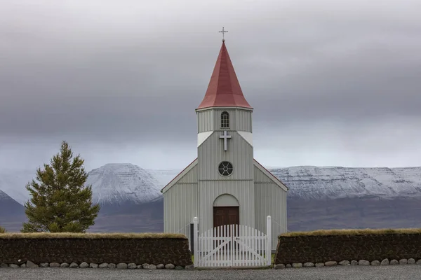
[[[0,189],[29,199],[26,183],[34,179],[29,172],[0,172]],[[26,176],[25,176],[26,174]],[[6,179],[5,179],[6,178]],[[15,180],[13,180],[15,179]],[[156,232],[163,230],[163,201],[160,183],[152,174],[131,164],[107,164],[88,172],[93,202],[100,203],[100,215],[93,232]],[[23,195],[22,195],[23,194]],[[0,193],[0,224],[18,231],[26,220],[24,207],[5,192]]]

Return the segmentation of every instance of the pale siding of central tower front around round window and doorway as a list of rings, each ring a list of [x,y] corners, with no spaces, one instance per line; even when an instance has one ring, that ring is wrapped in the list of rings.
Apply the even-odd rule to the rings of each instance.
[[[219,110],[222,112],[222,110]],[[232,113],[232,111],[230,112]],[[220,114],[220,113],[219,113]],[[255,226],[253,147],[237,132],[230,131],[224,151],[222,130],[216,130],[198,148],[199,230],[213,228],[213,202],[219,195],[236,197],[240,204],[241,225]],[[234,167],[231,176],[220,176],[218,165],[229,161]]]

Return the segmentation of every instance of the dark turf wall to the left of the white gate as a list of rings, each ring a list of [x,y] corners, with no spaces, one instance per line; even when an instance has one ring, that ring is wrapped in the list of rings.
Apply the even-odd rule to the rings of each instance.
[[[32,261],[192,265],[187,238],[1,237],[0,262]]]

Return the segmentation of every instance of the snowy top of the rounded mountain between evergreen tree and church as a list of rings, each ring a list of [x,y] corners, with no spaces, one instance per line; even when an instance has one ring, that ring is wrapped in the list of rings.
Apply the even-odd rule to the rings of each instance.
[[[130,163],[109,163],[88,172],[86,184],[92,185],[93,202],[142,204],[161,197],[159,181],[147,170]]]

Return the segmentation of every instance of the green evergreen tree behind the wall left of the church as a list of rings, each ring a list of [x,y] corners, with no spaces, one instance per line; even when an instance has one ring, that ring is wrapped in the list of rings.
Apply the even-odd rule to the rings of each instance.
[[[32,198],[25,203],[28,223],[21,232],[85,232],[95,224],[100,206],[92,204],[92,186],[84,186],[83,162],[62,141],[50,165],[36,169],[36,180],[26,186]]]

